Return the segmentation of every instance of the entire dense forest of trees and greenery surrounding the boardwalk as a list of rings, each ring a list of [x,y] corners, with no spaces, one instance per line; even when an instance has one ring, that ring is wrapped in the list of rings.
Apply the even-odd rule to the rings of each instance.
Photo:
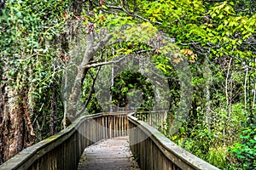
[[[0,0],[0,164],[81,115],[164,105],[176,144],[221,169],[256,168],[254,3]],[[151,81],[132,66],[143,59]],[[168,90],[154,92],[158,77]]]

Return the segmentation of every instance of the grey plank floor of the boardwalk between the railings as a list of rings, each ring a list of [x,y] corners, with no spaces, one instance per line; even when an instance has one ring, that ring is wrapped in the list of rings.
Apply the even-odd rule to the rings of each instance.
[[[92,144],[80,157],[78,170],[140,169],[129,149],[128,136],[106,139]]]

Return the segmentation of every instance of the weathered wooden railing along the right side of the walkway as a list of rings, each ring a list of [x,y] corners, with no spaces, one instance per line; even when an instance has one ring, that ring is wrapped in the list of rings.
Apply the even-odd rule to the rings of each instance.
[[[131,152],[142,169],[217,170],[207,161],[183,150],[147,122],[128,115]]]

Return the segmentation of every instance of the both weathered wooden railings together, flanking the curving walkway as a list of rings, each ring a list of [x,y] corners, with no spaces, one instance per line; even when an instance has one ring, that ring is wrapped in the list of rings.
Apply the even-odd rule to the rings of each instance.
[[[160,115],[161,113],[162,115]],[[101,139],[129,133],[131,151],[142,169],[218,169],[172,143],[153,126],[166,120],[155,112],[138,121],[127,113],[82,116],[60,133],[22,150],[0,166],[0,170],[75,170],[84,148]],[[147,123],[148,122],[148,123]]]

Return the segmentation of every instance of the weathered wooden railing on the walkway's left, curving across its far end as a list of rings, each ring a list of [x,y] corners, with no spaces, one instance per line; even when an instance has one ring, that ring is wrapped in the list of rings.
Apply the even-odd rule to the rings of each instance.
[[[1,170],[75,170],[84,148],[101,139],[127,135],[127,113],[82,116],[60,133],[4,162]]]

